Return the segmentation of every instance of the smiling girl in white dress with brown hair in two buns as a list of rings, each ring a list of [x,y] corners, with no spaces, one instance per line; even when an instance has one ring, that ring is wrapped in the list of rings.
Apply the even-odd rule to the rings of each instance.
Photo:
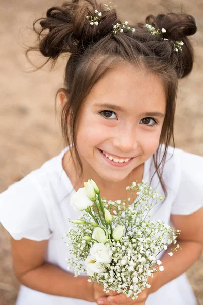
[[[184,272],[203,247],[203,158],[169,146],[177,81],[193,66],[187,36],[197,30],[194,18],[150,15],[129,25],[109,5],[73,0],[50,8],[40,25],[37,49],[48,60],[71,53],[58,91],[67,146],[0,194],[0,221],[22,284],[17,305],[197,304]],[[144,179],[166,195],[152,219],[181,230],[182,250],[159,255],[164,271],[137,300],[106,294],[86,275],[67,271],[61,237],[72,226],[68,218],[80,215],[70,198],[88,179],[111,200],[128,198],[126,186]]]

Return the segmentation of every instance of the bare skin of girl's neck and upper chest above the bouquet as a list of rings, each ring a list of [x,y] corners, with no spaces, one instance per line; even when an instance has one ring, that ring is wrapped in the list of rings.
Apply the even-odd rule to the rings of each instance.
[[[84,187],[84,182],[88,179],[93,179],[100,189],[101,196],[106,197],[107,200],[122,200],[123,198],[131,198],[129,191],[126,190],[126,186],[131,185],[135,180],[141,182],[144,173],[144,163],[135,168],[126,179],[119,182],[109,182],[101,179],[98,174],[93,171],[92,168],[83,168],[84,176],[82,179],[78,177],[78,171],[75,169],[73,159],[71,157],[70,149],[66,151],[62,159],[62,166],[69,177],[74,189],[78,191],[79,188]],[[135,199],[136,196],[134,196]],[[132,199],[132,198],[131,198]]]

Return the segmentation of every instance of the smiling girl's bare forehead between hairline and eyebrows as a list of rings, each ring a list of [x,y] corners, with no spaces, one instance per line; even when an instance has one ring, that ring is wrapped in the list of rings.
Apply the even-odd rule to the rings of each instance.
[[[110,68],[92,87],[89,98],[90,102],[108,100],[125,107],[156,107],[156,110],[162,111],[166,106],[161,78],[132,64],[118,64]]]

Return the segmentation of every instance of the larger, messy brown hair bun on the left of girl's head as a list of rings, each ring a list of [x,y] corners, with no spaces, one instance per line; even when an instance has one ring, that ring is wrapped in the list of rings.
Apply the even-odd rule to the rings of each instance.
[[[79,5],[78,0],[64,2],[62,6],[54,6],[47,10],[45,18],[39,18],[33,23],[38,34],[39,50],[43,56],[56,61],[62,53],[81,53],[90,43],[100,40],[112,31],[112,24],[118,22],[114,9],[108,11],[103,4],[95,6],[93,0]],[[102,12],[102,22],[99,26],[91,26],[87,16],[95,15],[94,10]],[[40,21],[40,29],[36,23]],[[44,32],[48,30],[47,32]],[[32,48],[33,49],[33,48]]]

